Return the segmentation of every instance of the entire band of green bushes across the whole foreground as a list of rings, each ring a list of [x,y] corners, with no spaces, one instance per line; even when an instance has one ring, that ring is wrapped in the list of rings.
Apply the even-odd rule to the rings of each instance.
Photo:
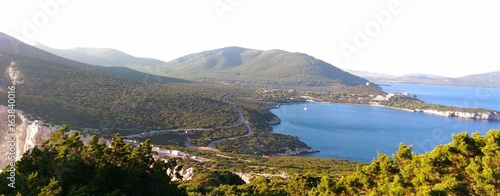
[[[248,158],[248,157],[247,157]],[[257,158],[254,158],[257,160]],[[250,161],[285,172],[245,183],[230,170],[198,164],[191,180],[171,182],[168,168],[186,164],[153,158],[149,140],[132,146],[115,135],[107,147],[87,144],[64,126],[15,163],[15,188],[2,195],[497,195],[500,192],[500,130],[467,132],[430,152],[415,154],[401,144],[392,156],[369,164],[334,159],[278,157]],[[286,168],[286,169],[285,169]],[[295,168],[295,169],[294,169]],[[3,169],[0,183],[11,183]]]

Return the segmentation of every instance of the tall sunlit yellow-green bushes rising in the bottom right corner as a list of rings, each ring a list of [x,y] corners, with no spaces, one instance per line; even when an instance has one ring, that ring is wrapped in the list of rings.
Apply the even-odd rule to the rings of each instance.
[[[400,145],[393,159],[380,154],[327,191],[345,195],[496,195],[500,192],[500,130],[453,135],[422,155]]]

